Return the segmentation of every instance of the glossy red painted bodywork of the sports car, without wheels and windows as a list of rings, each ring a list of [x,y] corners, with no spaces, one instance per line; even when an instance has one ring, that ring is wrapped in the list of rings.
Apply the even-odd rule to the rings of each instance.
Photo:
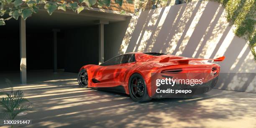
[[[211,73],[214,76],[208,76],[203,82],[208,82],[215,77],[218,77],[220,66],[206,62],[205,60],[223,61],[225,57],[217,59],[193,59],[173,55],[154,56],[141,52],[134,52],[136,62],[116,64],[110,66],[100,65],[85,65],[80,70],[86,69],[88,74],[88,87],[117,87],[123,86],[125,93],[129,94],[128,81],[132,74],[139,73],[146,82],[148,95],[151,97],[151,73],[161,73],[166,69],[183,69],[181,73]],[[215,67],[216,70],[212,71]],[[178,74],[177,74],[178,75]],[[97,79],[100,82],[93,83],[92,79]],[[163,78],[164,79],[164,78]]]

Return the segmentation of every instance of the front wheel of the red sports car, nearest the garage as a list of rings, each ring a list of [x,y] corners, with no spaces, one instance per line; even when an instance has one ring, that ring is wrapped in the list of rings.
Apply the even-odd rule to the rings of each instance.
[[[88,74],[86,69],[82,69],[78,73],[77,82],[79,84],[79,87],[87,88],[88,87]]]

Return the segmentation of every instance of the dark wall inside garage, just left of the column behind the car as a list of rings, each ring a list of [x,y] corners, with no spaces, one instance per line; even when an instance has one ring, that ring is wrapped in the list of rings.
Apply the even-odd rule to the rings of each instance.
[[[78,73],[83,65],[98,64],[98,26],[65,31],[65,72]]]

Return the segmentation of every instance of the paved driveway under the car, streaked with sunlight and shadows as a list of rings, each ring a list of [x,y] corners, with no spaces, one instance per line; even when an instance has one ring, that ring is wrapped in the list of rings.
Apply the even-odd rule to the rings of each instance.
[[[256,128],[253,93],[212,90],[213,95],[203,98],[137,103],[125,94],[78,88],[77,74],[43,72],[42,79],[32,75],[35,73],[31,73],[29,84],[14,85],[35,109],[18,117],[33,120],[33,125],[22,127]],[[5,91],[3,83],[0,87]]]

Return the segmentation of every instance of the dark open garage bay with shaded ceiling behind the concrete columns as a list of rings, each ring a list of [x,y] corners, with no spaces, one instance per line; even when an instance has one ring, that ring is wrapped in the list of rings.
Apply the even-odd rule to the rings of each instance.
[[[36,72],[38,77],[52,73],[54,64],[57,72],[79,72],[86,64],[99,64],[99,24],[100,20],[116,22],[117,19],[100,18],[67,13],[53,13],[51,16],[41,11],[26,20],[26,70],[27,81]],[[101,13],[99,13],[102,15]],[[107,14],[106,14],[107,15]],[[105,16],[106,16],[105,15]],[[113,17],[113,15],[111,15]],[[119,18],[119,20],[118,20]],[[125,20],[126,18],[123,18]],[[122,19],[121,19],[122,20]],[[95,22],[96,21],[96,22]],[[10,79],[19,84],[20,79],[20,23],[10,19],[0,26],[1,63],[0,84]],[[56,34],[54,35],[54,31]],[[56,36],[56,46],[54,46]],[[54,49],[56,57],[54,58]],[[103,51],[104,52],[104,51]],[[56,61],[54,62],[54,60]],[[41,74],[40,74],[41,73]]]

